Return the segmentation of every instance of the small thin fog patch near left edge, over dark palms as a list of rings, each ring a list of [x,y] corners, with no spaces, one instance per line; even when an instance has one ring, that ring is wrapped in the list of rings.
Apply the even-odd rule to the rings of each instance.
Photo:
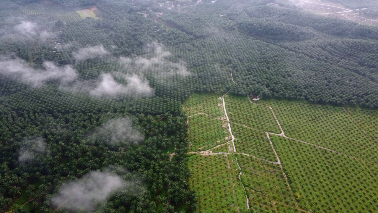
[[[32,160],[35,155],[45,152],[46,145],[43,138],[25,139],[25,142],[19,150],[18,160],[26,162]]]

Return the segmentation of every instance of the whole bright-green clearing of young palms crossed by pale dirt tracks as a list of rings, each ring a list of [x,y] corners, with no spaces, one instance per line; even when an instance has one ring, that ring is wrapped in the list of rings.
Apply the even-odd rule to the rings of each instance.
[[[190,152],[195,153],[189,157],[191,185],[200,212],[378,210],[378,111],[222,97],[193,94],[183,106],[189,115]],[[224,159],[235,169],[225,170]],[[220,171],[236,179],[225,183]],[[235,193],[227,192],[237,184]],[[226,195],[237,202],[218,208]],[[206,202],[210,198],[211,204]]]

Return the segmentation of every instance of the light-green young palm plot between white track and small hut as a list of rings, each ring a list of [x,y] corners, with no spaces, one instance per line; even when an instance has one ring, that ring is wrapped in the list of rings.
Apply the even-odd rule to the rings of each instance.
[[[247,97],[225,96],[230,122],[246,125],[263,132],[281,133],[268,107],[252,104]]]

